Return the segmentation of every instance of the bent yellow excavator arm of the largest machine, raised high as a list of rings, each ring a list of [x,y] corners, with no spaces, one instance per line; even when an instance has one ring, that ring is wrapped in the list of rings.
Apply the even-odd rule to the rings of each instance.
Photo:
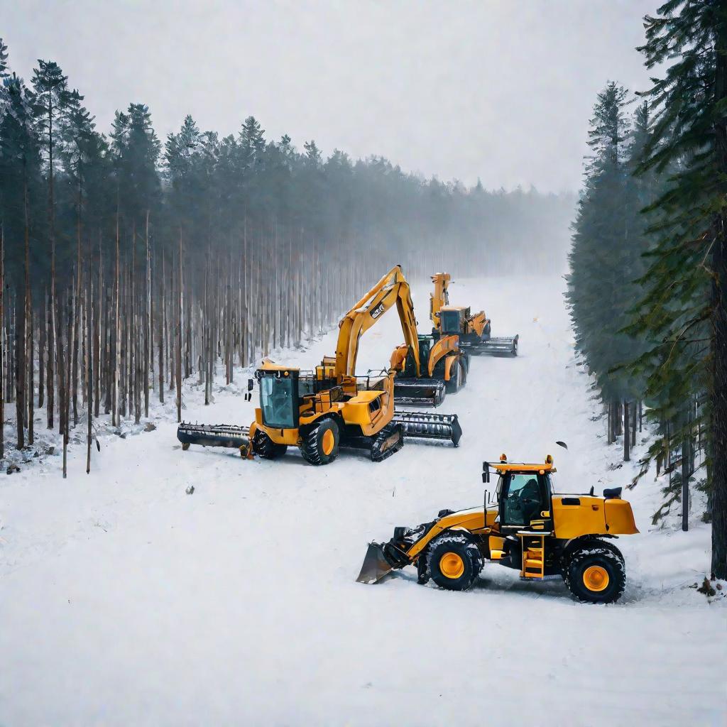
[[[404,341],[414,356],[417,376],[420,375],[417,319],[414,318],[411,290],[404,278],[401,265],[395,265],[341,319],[336,346],[337,380],[356,375],[358,340],[393,305],[396,305],[398,310]]]

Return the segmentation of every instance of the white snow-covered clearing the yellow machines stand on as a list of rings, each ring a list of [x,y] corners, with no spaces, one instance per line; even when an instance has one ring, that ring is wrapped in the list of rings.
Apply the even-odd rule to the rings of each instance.
[[[441,407],[459,414],[458,449],[245,462],[182,452],[166,421],[103,438],[90,475],[82,446],[65,481],[60,457],[2,475],[0,725],[725,724],[727,599],[690,587],[709,568],[709,528],[696,498],[688,534],[675,518],[652,529],[653,475],[624,491],[641,534],[617,543],[617,604],[576,603],[561,582],[523,583],[497,563],[468,593],[421,587],[413,569],[355,581],[370,539],[480,504],[481,462],[502,451],[553,454],[561,491],[630,481],[632,465],[609,470],[620,447],[593,419],[562,289],[452,286],[495,335],[521,334],[521,356],[473,358],[467,388]],[[414,290],[422,331],[428,292]],[[362,340],[359,371],[398,342],[391,311]],[[285,360],[310,368],[334,348],[331,332]],[[213,406],[188,390],[185,418],[249,423],[237,375]]]

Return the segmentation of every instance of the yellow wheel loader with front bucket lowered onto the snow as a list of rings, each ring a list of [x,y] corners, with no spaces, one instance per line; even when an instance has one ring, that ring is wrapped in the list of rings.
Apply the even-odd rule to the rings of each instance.
[[[467,590],[485,561],[520,571],[529,581],[563,579],[579,601],[613,603],[624,592],[624,557],[613,544],[638,533],[621,488],[555,494],[550,454],[542,464],[483,462],[499,475],[494,502],[470,510],[440,510],[416,528],[395,528],[386,543],[372,542],[358,581],[375,583],[393,569],[417,568],[419,583],[432,579],[448,590]]]

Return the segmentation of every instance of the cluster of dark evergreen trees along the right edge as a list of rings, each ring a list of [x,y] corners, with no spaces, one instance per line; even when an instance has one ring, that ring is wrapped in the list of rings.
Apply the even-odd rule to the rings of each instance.
[[[681,505],[686,529],[690,483],[706,489],[725,578],[727,12],[672,0],[645,26],[653,87],[611,82],[595,103],[567,297],[608,441],[628,460],[643,416],[654,423],[641,475],[669,475],[654,524]]]

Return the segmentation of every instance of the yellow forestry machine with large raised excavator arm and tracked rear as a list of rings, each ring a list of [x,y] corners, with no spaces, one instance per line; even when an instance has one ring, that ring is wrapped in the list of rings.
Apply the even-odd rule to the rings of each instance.
[[[340,321],[334,357],[325,357],[314,371],[275,364],[266,359],[255,371],[260,407],[249,427],[182,422],[177,439],[190,444],[240,449],[243,457],[282,457],[297,446],[312,465],[336,459],[339,447],[366,449],[374,462],[403,446],[404,436],[459,443],[462,428],[456,414],[394,411],[394,377],[389,369],[356,376],[358,340],[393,305],[397,305],[409,347],[417,344],[402,311],[410,309],[409,286],[401,268],[393,268]],[[416,326],[414,325],[414,332]],[[441,383],[441,382],[435,382]],[[249,382],[252,391],[252,379]]]

